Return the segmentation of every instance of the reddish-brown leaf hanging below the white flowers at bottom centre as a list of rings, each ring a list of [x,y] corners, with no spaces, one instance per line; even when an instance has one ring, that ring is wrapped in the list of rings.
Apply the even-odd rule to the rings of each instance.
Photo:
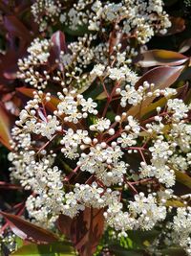
[[[80,256],[91,256],[103,234],[103,209],[85,208],[69,222],[68,218],[62,216],[59,218],[58,226],[72,240]]]

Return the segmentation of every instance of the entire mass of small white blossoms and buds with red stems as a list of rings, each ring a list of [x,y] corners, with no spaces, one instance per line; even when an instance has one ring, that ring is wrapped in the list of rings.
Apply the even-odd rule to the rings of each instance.
[[[9,160],[11,180],[32,192],[29,218],[53,228],[60,215],[102,209],[118,237],[163,221],[191,255],[189,200],[174,190],[189,173],[191,105],[173,82],[140,78],[136,65],[141,45],[171,25],[163,3],[66,2],[36,1],[32,14],[41,32],[61,22],[79,36],[35,38],[18,61],[33,94],[12,128]]]

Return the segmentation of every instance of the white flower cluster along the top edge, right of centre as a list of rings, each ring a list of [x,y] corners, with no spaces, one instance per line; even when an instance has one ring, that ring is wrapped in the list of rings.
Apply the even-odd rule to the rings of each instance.
[[[87,26],[90,31],[105,32],[105,24],[115,24],[117,30],[128,37],[136,36],[139,43],[146,43],[156,32],[165,34],[171,26],[163,11],[161,0],[123,0],[120,3],[107,1],[76,1],[68,12],[61,12],[60,21],[71,30]]]

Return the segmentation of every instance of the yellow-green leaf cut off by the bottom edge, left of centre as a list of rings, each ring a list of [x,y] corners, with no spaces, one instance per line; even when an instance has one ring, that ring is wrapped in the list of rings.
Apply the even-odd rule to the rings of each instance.
[[[12,256],[73,256],[74,248],[71,244],[63,242],[56,244],[28,244],[24,245],[15,252]]]

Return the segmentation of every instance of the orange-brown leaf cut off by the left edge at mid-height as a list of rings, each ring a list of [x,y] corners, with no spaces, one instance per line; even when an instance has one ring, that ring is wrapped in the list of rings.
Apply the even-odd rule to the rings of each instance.
[[[11,150],[11,115],[0,104],[0,142]]]

